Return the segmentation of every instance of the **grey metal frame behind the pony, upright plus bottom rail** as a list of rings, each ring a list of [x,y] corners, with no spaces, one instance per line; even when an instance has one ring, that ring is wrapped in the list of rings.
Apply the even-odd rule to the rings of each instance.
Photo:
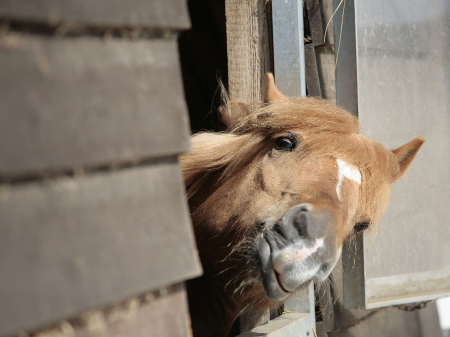
[[[288,96],[306,96],[303,1],[272,1],[275,83]],[[289,34],[286,34],[289,32]],[[283,315],[238,337],[313,336],[315,329],[314,284],[284,303]]]

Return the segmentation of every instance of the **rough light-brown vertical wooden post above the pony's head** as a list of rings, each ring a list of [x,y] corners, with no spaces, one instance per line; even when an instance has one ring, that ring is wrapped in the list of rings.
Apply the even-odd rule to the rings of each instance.
[[[261,100],[273,71],[265,2],[225,0],[228,87],[233,101]]]

